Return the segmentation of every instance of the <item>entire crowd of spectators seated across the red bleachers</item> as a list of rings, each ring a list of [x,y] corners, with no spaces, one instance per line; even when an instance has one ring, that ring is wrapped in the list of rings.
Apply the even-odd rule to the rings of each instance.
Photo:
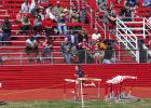
[[[118,14],[112,2],[110,4],[107,0],[97,0],[97,2],[100,12],[105,13],[102,17],[104,25],[111,25],[112,28],[115,27],[116,15],[120,15],[121,18],[128,17],[123,19],[132,21],[135,9],[138,6],[137,0],[125,0],[124,6],[121,9],[120,14]],[[121,3],[122,0],[116,0],[116,2]],[[42,6],[41,3],[45,3],[46,6]],[[143,5],[149,5],[149,1],[146,0]],[[4,21],[0,41],[9,41],[11,36],[11,23],[8,17]],[[86,23],[86,10],[81,9],[79,11],[73,3],[69,8],[61,6],[59,0],[56,1],[56,5],[49,3],[49,0],[31,0],[31,3],[25,0],[16,15],[16,24],[20,27],[19,33],[30,36],[26,39],[26,53],[29,56],[29,60],[32,62],[31,53],[35,53],[36,62],[52,62],[51,58],[47,60],[47,57],[52,55],[54,45],[53,39],[50,36],[55,35],[66,36],[60,50],[67,64],[111,64],[115,60],[112,58],[114,41],[105,40],[98,28],[94,28],[94,33],[88,38],[90,35],[86,33],[85,29],[78,31],[74,26],[71,26],[69,29],[68,23]],[[44,59],[39,57],[39,44],[42,33],[45,36],[41,54],[42,57],[45,57]],[[9,43],[3,42],[2,44]]]

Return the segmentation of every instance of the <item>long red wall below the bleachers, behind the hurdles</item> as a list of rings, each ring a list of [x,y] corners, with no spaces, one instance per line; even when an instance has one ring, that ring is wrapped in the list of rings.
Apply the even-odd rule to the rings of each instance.
[[[137,76],[135,86],[151,86],[150,64],[83,65],[85,75],[104,82],[116,75]],[[74,78],[74,65],[0,66],[2,89],[63,87],[64,79]],[[132,83],[132,82],[127,82]]]

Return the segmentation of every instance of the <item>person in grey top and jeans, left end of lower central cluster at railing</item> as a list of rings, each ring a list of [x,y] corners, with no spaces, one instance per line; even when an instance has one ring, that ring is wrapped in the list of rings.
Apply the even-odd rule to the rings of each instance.
[[[61,44],[60,50],[63,52],[64,59],[65,59],[66,64],[71,64],[71,56],[72,56],[71,48],[72,48],[72,45],[68,41],[68,38],[65,38],[65,41]]]

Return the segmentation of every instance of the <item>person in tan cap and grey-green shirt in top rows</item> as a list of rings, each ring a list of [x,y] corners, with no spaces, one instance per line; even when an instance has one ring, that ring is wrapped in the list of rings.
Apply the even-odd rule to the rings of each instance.
[[[57,4],[53,8],[54,15],[58,17],[63,13],[63,8],[60,6],[60,1],[57,1]]]

